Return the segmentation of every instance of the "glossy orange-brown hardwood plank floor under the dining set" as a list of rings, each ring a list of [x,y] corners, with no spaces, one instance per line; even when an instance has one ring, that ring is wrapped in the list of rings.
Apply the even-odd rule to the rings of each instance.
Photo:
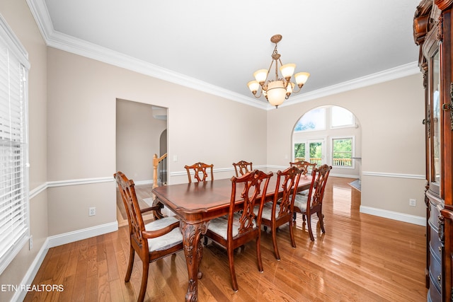
[[[280,261],[270,233],[263,231],[263,273],[258,272],[253,243],[239,250],[234,256],[236,293],[225,250],[209,243],[198,301],[426,301],[425,228],[361,214],[360,192],[350,181],[329,178],[323,204],[326,233],[314,220],[314,242],[297,216],[297,248],[291,248],[287,227],[277,234]],[[137,189],[139,197],[149,197],[149,188]],[[131,280],[125,283],[127,236],[126,225],[51,248],[33,284],[62,284],[64,291],[29,292],[24,301],[136,301],[142,264],[135,257]],[[183,252],[152,263],[145,301],[184,301],[187,276]]]

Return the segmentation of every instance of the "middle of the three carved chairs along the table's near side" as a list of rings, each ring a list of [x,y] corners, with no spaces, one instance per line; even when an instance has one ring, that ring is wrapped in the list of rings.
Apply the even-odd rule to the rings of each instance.
[[[289,223],[289,238],[291,245],[296,247],[294,240],[294,197],[297,195],[297,187],[299,185],[300,175],[302,170],[296,166],[287,168],[286,170],[277,172],[277,183],[275,185],[275,194],[272,202],[266,202],[263,205],[263,213],[261,214],[261,224],[269,226],[272,233],[272,242],[274,245],[275,258],[280,260],[280,253],[277,247],[277,228]],[[259,207],[255,206],[254,212],[258,215]]]

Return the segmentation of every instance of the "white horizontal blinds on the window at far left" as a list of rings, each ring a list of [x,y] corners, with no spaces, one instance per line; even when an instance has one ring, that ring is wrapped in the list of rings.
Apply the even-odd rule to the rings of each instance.
[[[0,18],[0,274],[29,236],[27,69]],[[22,52],[23,54],[23,52]]]

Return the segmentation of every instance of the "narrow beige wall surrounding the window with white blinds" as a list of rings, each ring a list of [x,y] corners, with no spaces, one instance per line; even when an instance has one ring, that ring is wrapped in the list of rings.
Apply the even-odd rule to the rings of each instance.
[[[47,181],[47,47],[25,0],[0,1],[0,13],[28,52],[30,190]],[[23,277],[47,239],[47,192],[30,199],[30,235],[33,249],[26,245],[0,275],[0,284],[21,284]],[[0,301],[9,301],[14,292],[0,291]]]

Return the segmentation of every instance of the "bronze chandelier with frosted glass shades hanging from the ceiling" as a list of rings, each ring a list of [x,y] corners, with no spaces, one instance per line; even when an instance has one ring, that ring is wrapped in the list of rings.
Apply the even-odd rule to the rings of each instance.
[[[307,79],[309,79],[310,74],[308,72],[299,72],[294,74],[294,69],[296,69],[296,64],[282,64],[280,60],[280,54],[277,52],[277,43],[282,40],[282,35],[273,35],[270,38],[270,42],[275,43],[274,51],[272,53],[272,62],[270,62],[269,69],[260,69],[253,73],[255,81],[250,81],[247,83],[248,88],[253,93],[255,98],[260,98],[261,95],[264,95],[266,100],[270,105],[278,108],[291,93],[298,93],[301,91],[302,86]],[[268,80],[268,74],[275,62],[275,80]],[[278,64],[280,63],[280,72],[282,73],[282,79],[278,77]],[[296,86],[292,81],[291,77],[294,74],[294,79],[297,83],[299,89],[294,91],[294,86]],[[258,89],[260,93],[257,95]]]

